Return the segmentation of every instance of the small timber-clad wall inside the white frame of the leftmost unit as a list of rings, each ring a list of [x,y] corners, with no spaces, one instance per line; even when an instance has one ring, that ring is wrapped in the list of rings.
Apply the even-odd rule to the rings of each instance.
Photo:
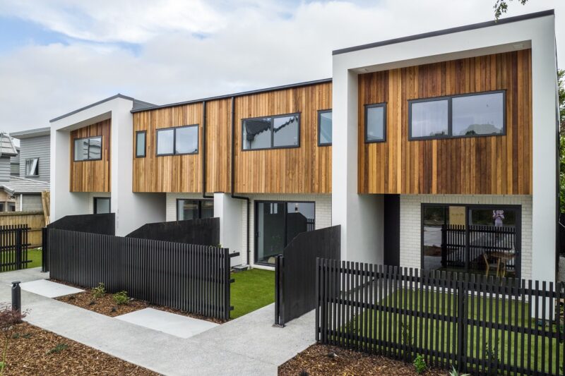
[[[71,192],[109,192],[110,191],[110,131],[112,120],[107,119],[90,126],[71,131]],[[101,135],[102,159],[74,162],[74,140]]]

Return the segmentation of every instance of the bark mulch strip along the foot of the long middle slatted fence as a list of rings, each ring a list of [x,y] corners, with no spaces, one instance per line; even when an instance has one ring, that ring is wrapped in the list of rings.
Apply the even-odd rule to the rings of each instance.
[[[51,281],[57,282],[58,284],[66,284],[69,286],[77,287],[78,289],[84,289],[81,286],[68,284],[63,281],[57,281],[56,279],[51,279]],[[125,315],[126,313],[131,313],[136,310],[143,310],[143,308],[155,308],[156,310],[164,310],[166,312],[175,313],[177,315],[183,315],[183,316],[193,317],[199,320],[215,322],[216,324],[222,324],[223,322],[222,320],[218,320],[212,317],[187,313],[182,310],[177,310],[162,305],[155,305],[147,301],[140,301],[133,298],[130,299],[129,303],[127,304],[118,305],[114,301],[114,297],[112,293],[106,293],[104,296],[100,298],[95,298],[94,291],[92,289],[87,289],[82,293],[73,293],[72,295],[60,296],[59,298],[56,299],[64,303],[76,305],[77,307],[85,308],[87,310],[91,310],[96,313],[101,313],[102,315],[107,315],[110,317]]]

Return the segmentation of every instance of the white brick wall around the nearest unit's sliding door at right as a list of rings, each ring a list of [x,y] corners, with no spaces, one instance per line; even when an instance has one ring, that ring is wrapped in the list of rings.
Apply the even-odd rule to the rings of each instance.
[[[530,195],[400,195],[400,265],[420,268],[422,203],[521,205],[522,275],[532,276],[532,196]]]

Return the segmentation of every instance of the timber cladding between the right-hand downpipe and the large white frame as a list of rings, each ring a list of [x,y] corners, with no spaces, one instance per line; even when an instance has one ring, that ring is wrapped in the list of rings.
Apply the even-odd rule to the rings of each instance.
[[[331,83],[235,98],[237,193],[331,193],[331,146],[318,146],[318,111],[331,109]],[[242,119],[300,114],[300,147],[242,150]]]

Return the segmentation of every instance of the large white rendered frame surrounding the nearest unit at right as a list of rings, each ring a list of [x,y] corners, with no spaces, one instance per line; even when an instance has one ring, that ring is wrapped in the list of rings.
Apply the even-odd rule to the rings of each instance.
[[[532,49],[532,278],[555,278],[557,223],[557,61],[554,16],[427,37],[333,56],[333,223],[342,225],[342,256],[371,258],[357,226],[357,74],[516,49]],[[369,205],[373,211],[374,205]],[[376,222],[371,222],[374,227]],[[364,224],[361,224],[363,226]],[[367,229],[364,229],[367,230]],[[357,238],[359,237],[359,238]]]

